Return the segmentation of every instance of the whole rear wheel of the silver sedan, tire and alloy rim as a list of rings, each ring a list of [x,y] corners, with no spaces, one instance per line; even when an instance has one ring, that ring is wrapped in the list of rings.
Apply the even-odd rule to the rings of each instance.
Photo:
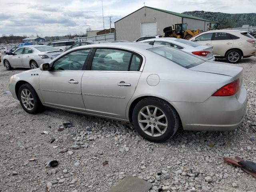
[[[177,112],[170,104],[158,98],[145,98],[136,104],[132,120],[136,131],[151,142],[164,142],[179,127]]]

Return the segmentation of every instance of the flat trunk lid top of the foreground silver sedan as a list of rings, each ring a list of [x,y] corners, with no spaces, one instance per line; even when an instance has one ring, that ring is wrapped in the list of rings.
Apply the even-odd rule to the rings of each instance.
[[[206,61],[200,65],[189,68],[190,70],[221,74],[231,77],[236,77],[243,70],[240,66],[235,66],[233,64],[223,64],[221,62],[209,62]]]

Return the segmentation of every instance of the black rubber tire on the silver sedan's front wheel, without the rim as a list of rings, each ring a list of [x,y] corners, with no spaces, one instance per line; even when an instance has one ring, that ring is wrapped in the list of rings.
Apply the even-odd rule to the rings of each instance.
[[[23,101],[22,101],[22,100],[24,100],[24,96],[22,95],[22,91],[26,92],[26,90],[28,90],[31,93],[29,98],[33,98],[34,106],[31,109],[26,108],[25,104],[23,104]],[[42,110],[42,108],[43,108],[42,103],[41,103],[40,99],[38,98],[38,95],[36,94],[36,91],[34,90],[34,88],[30,84],[28,84],[28,83],[22,84],[22,86],[20,86],[20,88],[19,88],[19,93],[18,94],[19,94],[18,98],[20,100],[20,104],[26,112],[28,112],[30,114],[36,114],[36,113],[38,113]]]

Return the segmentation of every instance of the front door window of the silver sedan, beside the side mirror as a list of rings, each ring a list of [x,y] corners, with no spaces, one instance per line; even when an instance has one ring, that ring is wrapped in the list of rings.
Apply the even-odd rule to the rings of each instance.
[[[90,49],[84,49],[66,54],[54,62],[52,70],[83,70],[84,63],[89,53]]]

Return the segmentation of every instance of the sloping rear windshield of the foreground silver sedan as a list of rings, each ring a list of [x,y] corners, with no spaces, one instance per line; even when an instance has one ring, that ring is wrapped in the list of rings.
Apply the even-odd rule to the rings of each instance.
[[[171,47],[156,47],[148,50],[187,69],[205,62],[205,60],[202,60],[196,56],[192,56],[186,52]]]

